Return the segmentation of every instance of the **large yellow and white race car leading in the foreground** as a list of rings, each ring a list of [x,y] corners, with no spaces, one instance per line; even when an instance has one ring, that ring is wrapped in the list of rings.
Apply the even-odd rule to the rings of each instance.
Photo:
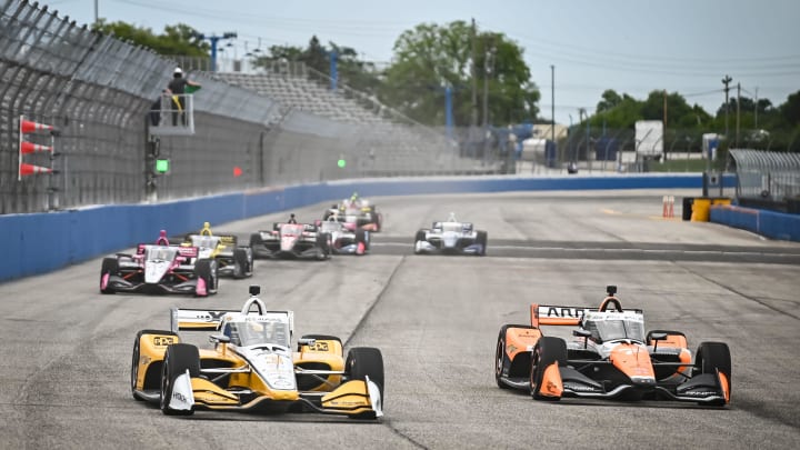
[[[292,311],[270,311],[250,287],[241,310],[173,308],[170,330],[141,330],[130,373],[136,400],[164,414],[197,410],[321,412],[352,419],[383,416],[383,357],[372,347],[343,356],[341,340],[297,340]],[[210,349],[184,343],[179,331],[214,331]]]

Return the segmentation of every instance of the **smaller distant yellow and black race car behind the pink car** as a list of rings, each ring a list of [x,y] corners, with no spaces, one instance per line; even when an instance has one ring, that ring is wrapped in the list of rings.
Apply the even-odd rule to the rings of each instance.
[[[238,246],[234,234],[213,234],[209,222],[203,222],[199,233],[186,234],[182,246],[197,247],[199,258],[216,260],[220,277],[252,277],[253,256],[250,247]]]

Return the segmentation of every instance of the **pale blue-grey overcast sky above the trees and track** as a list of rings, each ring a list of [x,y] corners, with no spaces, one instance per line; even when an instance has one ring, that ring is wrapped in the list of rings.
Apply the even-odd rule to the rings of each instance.
[[[350,47],[390,62],[397,38],[420,23],[474,19],[523,49],[541,91],[540,118],[579,121],[607,89],[644,100],[683,96],[713,114],[741,91],[773,106],[800,91],[799,0],[40,0],[79,24],[96,16],[163,32],[186,23],[207,36],[236,32],[220,60],[256,48]],[[222,47],[221,47],[222,48]],[[223,62],[220,62],[223,63]],[[551,80],[553,79],[554,82]],[[554,94],[556,101],[551,98]]]

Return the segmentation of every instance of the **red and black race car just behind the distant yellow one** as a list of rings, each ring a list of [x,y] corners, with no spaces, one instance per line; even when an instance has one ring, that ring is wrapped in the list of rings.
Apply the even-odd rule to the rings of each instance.
[[[297,223],[294,214],[287,222],[274,222],[272,229],[250,236],[256,258],[330,259],[331,237],[314,223]]]

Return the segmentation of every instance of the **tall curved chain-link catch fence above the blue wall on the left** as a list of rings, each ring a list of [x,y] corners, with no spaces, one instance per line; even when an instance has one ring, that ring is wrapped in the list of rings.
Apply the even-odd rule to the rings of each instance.
[[[341,178],[474,172],[474,161],[460,158],[441,133],[380,104],[364,108],[370,100],[343,87],[314,91],[320,112],[291,97],[191,72],[202,84],[192,101],[194,133],[151,133],[151,109],[177,64],[38,3],[0,0],[0,213]],[[298,70],[309,77],[306,68]],[[52,152],[20,153],[21,118],[58,128]],[[42,144],[39,139],[50,139],[23,138]],[[53,172],[19,177],[23,159]],[[154,160],[168,160],[169,173],[159,174]]]

